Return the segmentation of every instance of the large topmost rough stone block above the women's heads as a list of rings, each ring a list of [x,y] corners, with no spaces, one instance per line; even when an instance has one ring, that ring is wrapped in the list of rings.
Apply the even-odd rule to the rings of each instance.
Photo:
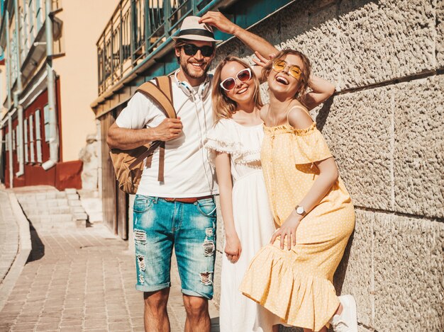
[[[436,69],[437,57],[442,66],[442,6],[426,0],[294,1],[251,31],[279,48],[305,52],[313,71],[343,90]],[[237,40],[218,52],[251,55]]]

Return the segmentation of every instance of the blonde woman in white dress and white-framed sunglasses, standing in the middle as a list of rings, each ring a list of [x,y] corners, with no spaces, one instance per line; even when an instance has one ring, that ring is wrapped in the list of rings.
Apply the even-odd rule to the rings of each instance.
[[[260,57],[259,55],[257,55]],[[208,132],[206,148],[216,166],[226,255],[222,258],[221,332],[278,331],[279,319],[238,290],[255,253],[268,244],[274,232],[272,214],[262,175],[260,149],[264,136],[260,119],[260,73],[266,59],[250,67],[237,57],[226,57],[213,77],[215,126]],[[311,78],[313,92],[307,107],[325,101],[334,86]],[[274,326],[274,327],[273,327]]]

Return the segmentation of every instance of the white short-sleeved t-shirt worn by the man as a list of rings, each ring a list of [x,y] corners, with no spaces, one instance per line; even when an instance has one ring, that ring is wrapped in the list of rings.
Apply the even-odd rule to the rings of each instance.
[[[157,181],[159,149],[152,156],[150,168],[143,170],[138,186],[139,195],[165,198],[192,198],[218,193],[216,174],[209,164],[204,144],[206,132],[213,125],[211,93],[204,100],[199,96],[199,86],[194,88],[194,99],[185,95],[176,81],[172,81],[174,109],[182,121],[182,134],[165,142],[164,182]],[[141,129],[156,127],[165,119],[164,113],[142,93],[128,101],[118,118],[118,127]]]

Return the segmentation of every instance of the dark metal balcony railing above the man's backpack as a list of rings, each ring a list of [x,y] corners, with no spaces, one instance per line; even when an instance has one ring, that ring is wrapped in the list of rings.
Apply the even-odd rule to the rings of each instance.
[[[97,42],[99,96],[213,0],[121,0]]]

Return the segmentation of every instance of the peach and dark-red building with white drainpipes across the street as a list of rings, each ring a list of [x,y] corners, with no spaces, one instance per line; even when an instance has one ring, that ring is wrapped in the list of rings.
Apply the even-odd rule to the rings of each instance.
[[[0,178],[6,187],[82,188],[79,152],[96,132],[89,103],[97,75],[94,38],[84,36],[99,34],[114,6],[106,0],[2,1]]]

